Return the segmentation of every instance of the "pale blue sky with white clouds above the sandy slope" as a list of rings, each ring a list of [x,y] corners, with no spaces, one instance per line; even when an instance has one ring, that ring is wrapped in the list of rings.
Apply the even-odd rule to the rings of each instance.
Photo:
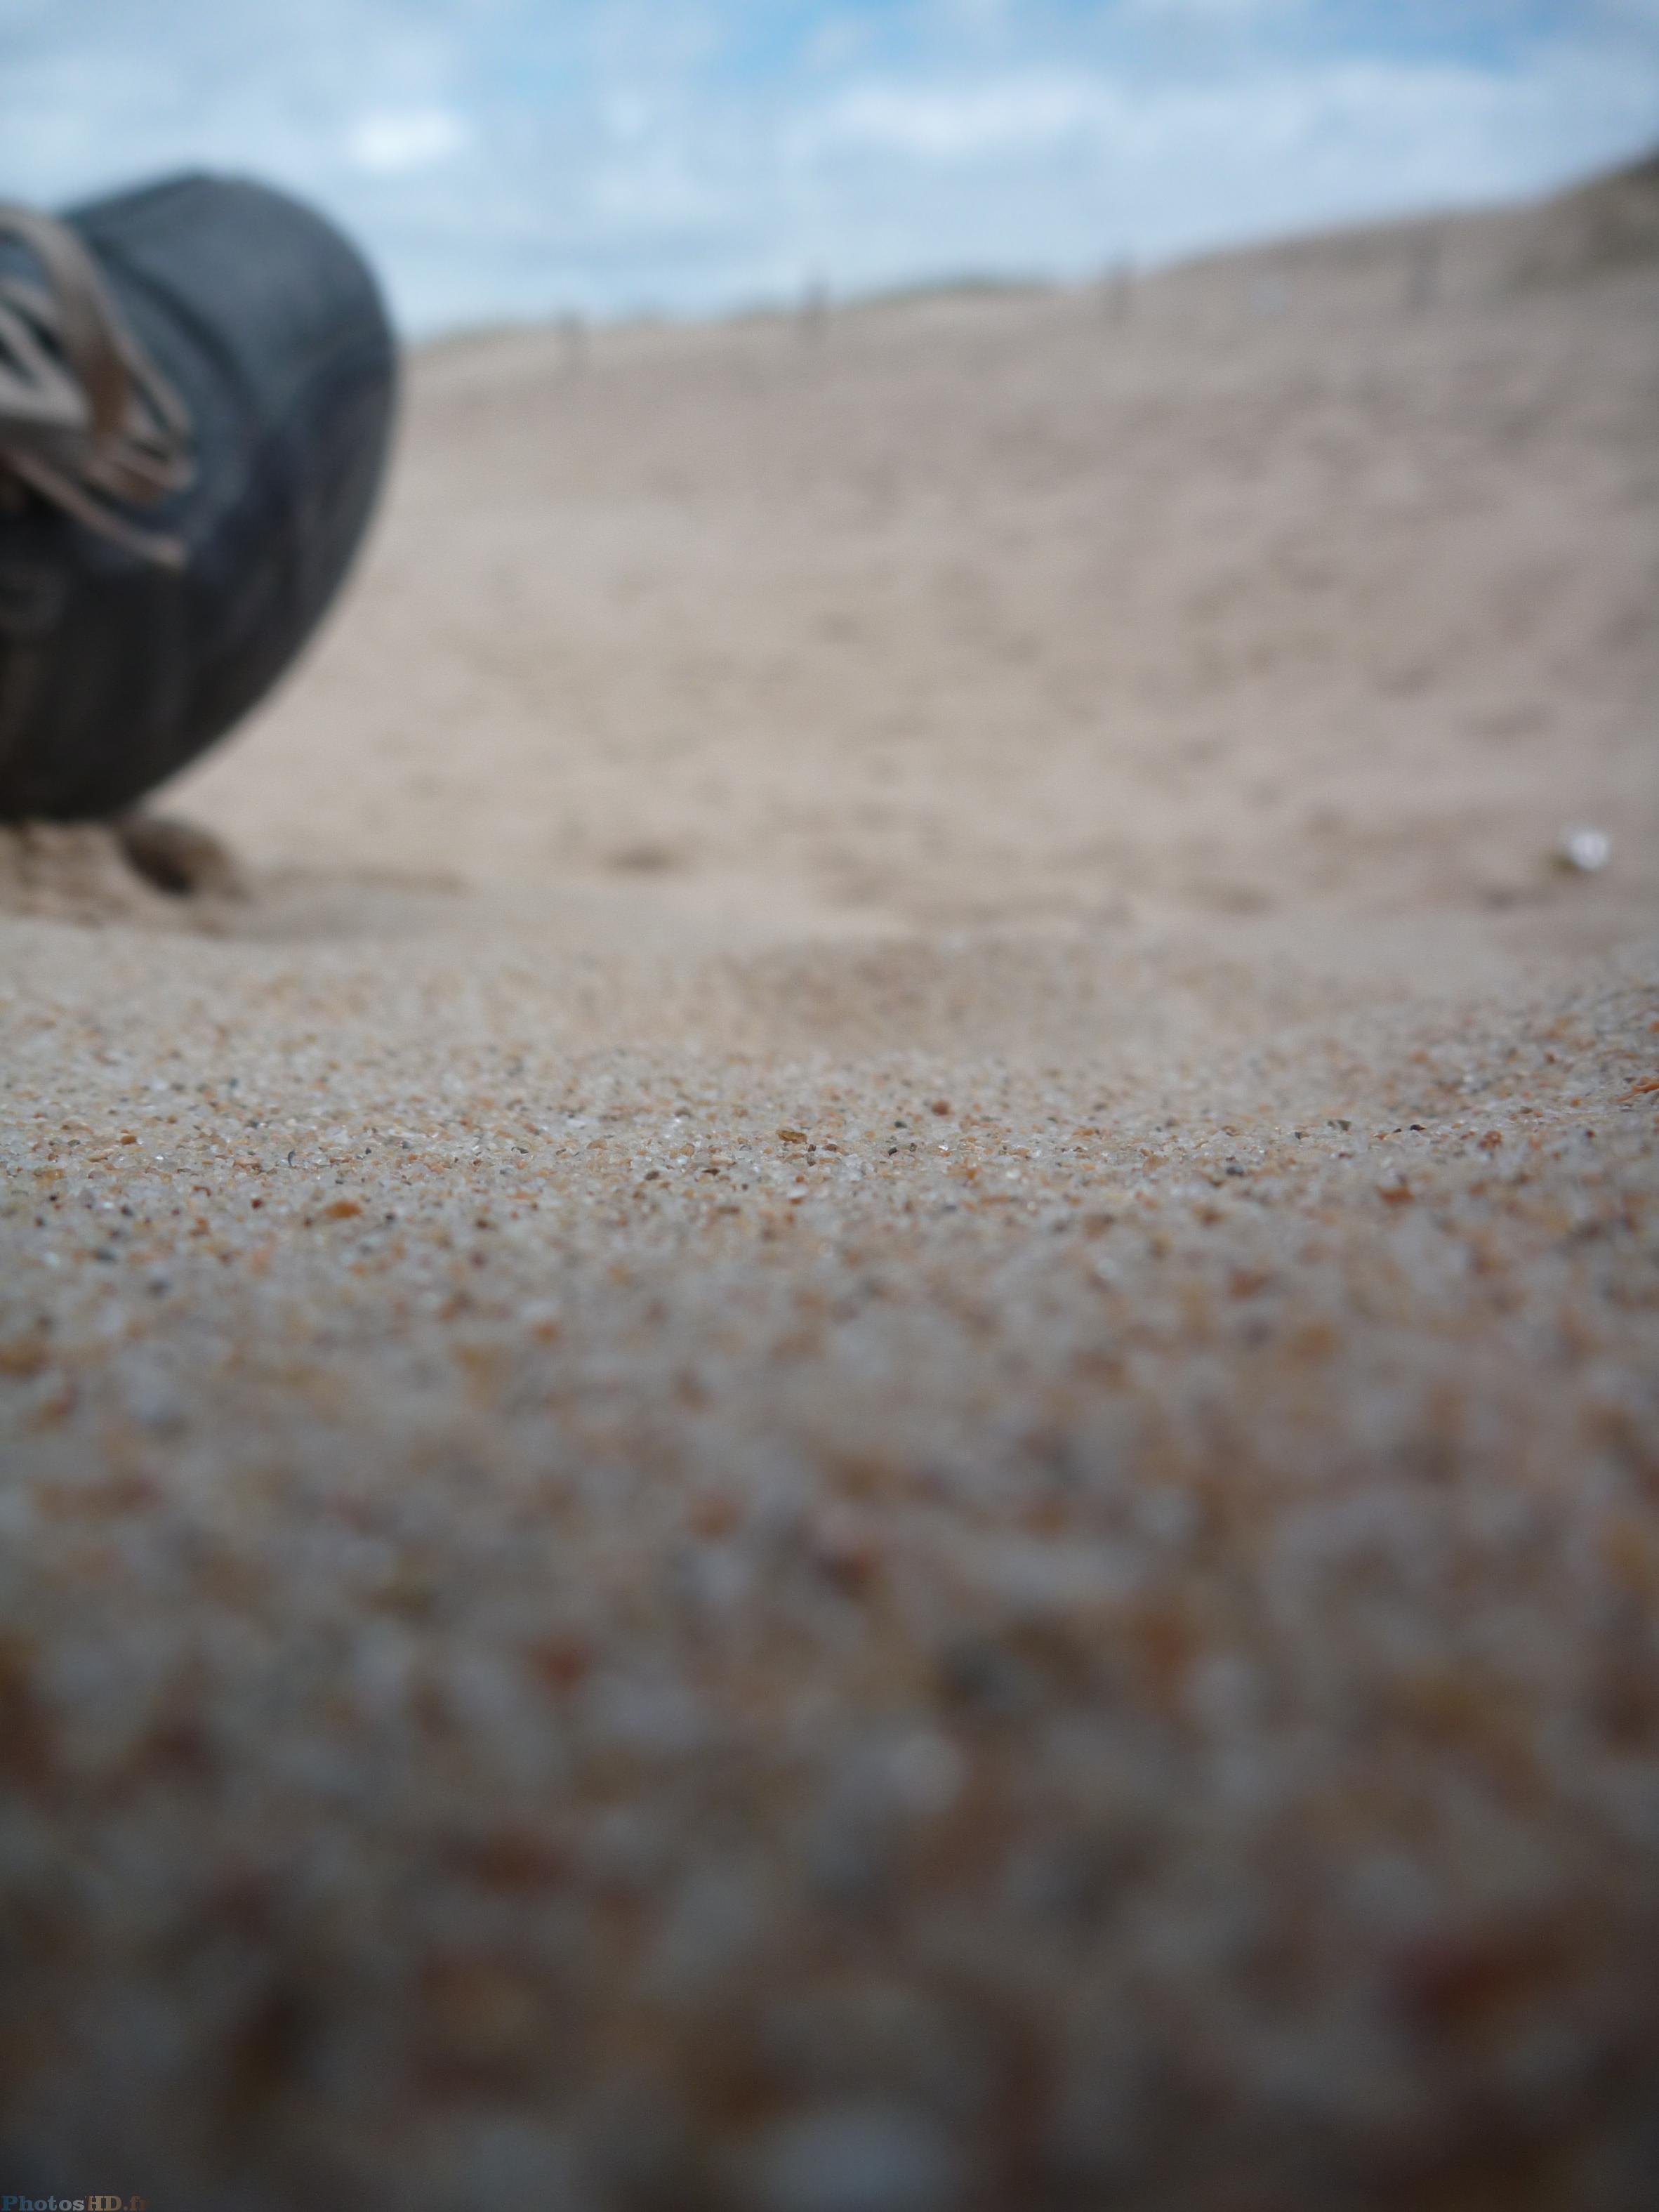
[[[1655,146],[1659,0],[0,0],[0,197],[261,175],[411,334],[1079,279]]]

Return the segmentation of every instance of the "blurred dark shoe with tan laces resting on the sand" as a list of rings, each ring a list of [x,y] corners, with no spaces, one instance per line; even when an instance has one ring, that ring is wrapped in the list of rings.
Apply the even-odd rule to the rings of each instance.
[[[363,535],[394,387],[372,274],[281,192],[0,210],[0,821],[126,812],[276,681]]]

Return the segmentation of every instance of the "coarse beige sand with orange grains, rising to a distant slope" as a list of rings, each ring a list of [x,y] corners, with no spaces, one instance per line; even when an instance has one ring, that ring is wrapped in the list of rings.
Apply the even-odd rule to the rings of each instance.
[[[1652,2203],[1630,190],[434,347],[0,838],[0,2188]]]

